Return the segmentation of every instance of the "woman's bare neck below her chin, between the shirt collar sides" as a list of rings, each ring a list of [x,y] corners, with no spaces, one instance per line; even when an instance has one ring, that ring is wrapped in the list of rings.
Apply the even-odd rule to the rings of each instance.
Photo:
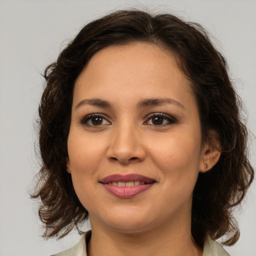
[[[140,232],[127,233],[102,226],[91,221],[91,238],[88,243],[88,256],[201,256],[202,249],[192,241],[190,220],[179,223],[164,223]]]

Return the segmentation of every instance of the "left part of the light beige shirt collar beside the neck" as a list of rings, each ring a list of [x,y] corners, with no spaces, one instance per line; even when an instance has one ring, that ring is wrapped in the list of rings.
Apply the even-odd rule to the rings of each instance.
[[[91,231],[87,231],[81,236],[79,242],[77,242],[71,248],[53,254],[51,256],[87,256],[86,254],[86,242],[90,239]]]

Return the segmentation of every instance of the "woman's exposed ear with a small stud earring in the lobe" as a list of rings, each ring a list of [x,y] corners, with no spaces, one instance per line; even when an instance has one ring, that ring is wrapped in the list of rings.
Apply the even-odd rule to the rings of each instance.
[[[200,159],[200,172],[210,170],[218,161],[220,157],[220,141],[217,132],[211,130],[208,132],[208,139],[202,146]]]

